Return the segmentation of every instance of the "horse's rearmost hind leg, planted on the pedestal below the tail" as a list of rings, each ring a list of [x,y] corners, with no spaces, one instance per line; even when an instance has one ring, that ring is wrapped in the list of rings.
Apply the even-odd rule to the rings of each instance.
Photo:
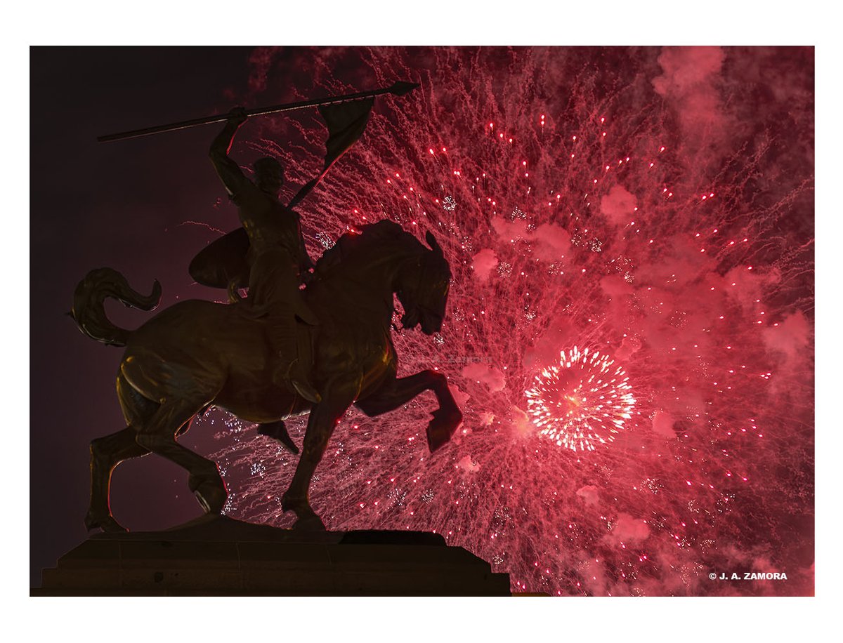
[[[109,487],[111,472],[123,460],[139,458],[149,450],[135,442],[137,431],[127,426],[110,436],[98,437],[91,442],[91,505],[85,516],[85,527],[100,528],[105,532],[126,531],[111,516]]]

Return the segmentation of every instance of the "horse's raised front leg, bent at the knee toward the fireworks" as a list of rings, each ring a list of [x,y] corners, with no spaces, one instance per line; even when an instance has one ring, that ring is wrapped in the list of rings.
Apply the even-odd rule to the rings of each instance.
[[[454,431],[463,421],[454,396],[448,388],[448,378],[438,371],[421,371],[409,378],[393,379],[357,402],[357,408],[373,417],[388,413],[405,405],[422,391],[431,390],[436,395],[439,408],[432,411],[433,419],[427,425],[427,447],[431,452],[442,447],[451,439]]]

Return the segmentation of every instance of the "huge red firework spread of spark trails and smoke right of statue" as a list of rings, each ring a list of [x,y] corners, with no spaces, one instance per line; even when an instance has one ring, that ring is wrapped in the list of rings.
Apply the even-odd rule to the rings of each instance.
[[[432,396],[383,419],[352,410],[312,487],[329,528],[443,533],[520,592],[812,592],[810,52],[299,53],[285,69],[302,93],[422,83],[379,104],[300,209],[314,255],[383,218],[437,235],[448,319],[432,338],[395,336],[399,375],[445,372],[465,415],[431,455]],[[360,78],[338,83],[338,68]],[[320,136],[307,118],[271,121],[250,147],[301,184]],[[577,442],[542,423],[537,378],[573,346],[612,362],[622,431],[609,415]],[[291,524],[295,459],[207,421],[228,512]],[[300,443],[303,421],[289,424]],[[708,578],[733,570],[788,580]]]

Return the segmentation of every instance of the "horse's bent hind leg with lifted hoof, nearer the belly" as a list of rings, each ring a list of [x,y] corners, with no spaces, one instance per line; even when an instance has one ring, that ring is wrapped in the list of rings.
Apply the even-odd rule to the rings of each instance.
[[[141,447],[187,469],[190,474],[187,485],[199,504],[207,513],[220,513],[228,492],[217,464],[175,441],[176,431],[191,421],[205,404],[204,401],[196,404],[180,399],[165,402],[137,431],[135,439]]]

